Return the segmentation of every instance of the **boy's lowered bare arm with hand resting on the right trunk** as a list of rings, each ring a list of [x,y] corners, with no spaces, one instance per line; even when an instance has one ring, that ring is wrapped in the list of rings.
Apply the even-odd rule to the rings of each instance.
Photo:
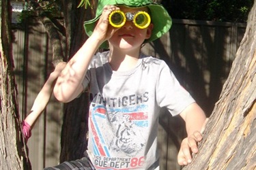
[[[186,122],[186,132],[188,137],[182,141],[177,161],[180,165],[188,165],[188,163],[191,163],[192,161],[191,152],[198,152],[197,142],[201,141],[203,138],[200,132],[203,129],[203,126],[205,126],[206,117],[205,113],[197,103],[193,103],[186,107],[180,116],[182,116]]]

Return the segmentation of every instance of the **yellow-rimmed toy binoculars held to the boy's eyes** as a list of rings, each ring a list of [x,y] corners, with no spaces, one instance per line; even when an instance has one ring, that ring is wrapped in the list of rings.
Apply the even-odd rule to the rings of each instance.
[[[131,12],[124,12],[115,10],[109,14],[109,23],[116,28],[123,27],[126,20],[132,20],[133,24],[139,29],[145,29],[150,25],[151,18],[147,12],[137,12],[132,14]]]

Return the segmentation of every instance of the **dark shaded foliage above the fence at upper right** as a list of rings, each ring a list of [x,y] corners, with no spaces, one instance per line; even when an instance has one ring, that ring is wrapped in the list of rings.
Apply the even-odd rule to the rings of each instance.
[[[253,0],[162,1],[172,18],[246,22]]]

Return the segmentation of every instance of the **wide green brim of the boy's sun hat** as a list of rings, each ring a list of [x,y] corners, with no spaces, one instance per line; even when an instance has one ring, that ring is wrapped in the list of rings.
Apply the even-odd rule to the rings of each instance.
[[[144,43],[148,43],[162,37],[162,35],[167,33],[169,29],[171,29],[172,20],[167,10],[165,10],[165,7],[158,3],[150,3],[148,5],[143,6],[149,7],[152,23],[154,24],[151,37],[149,39],[145,39],[144,41]],[[87,20],[84,22],[85,33],[87,33],[88,36],[91,36],[91,34],[93,33],[94,27],[96,26],[96,22],[100,18],[101,14],[102,10],[100,12],[97,12],[96,17],[94,19]],[[106,44],[103,44],[103,46],[101,47],[107,48]]]

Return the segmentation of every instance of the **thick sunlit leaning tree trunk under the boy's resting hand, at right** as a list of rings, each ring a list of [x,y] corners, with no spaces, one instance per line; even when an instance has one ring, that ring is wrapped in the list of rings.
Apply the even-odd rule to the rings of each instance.
[[[206,126],[199,153],[184,169],[256,169],[256,1],[246,33]]]

